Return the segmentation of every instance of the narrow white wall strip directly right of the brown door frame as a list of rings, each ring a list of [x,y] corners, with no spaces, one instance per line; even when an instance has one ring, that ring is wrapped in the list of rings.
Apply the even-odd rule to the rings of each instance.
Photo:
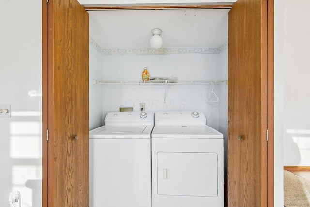
[[[274,2],[274,205],[283,207],[284,1]]]

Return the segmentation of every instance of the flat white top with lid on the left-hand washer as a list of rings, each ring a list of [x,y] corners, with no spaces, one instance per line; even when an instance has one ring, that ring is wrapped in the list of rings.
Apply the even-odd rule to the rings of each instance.
[[[102,126],[89,132],[90,139],[150,138],[153,125]]]

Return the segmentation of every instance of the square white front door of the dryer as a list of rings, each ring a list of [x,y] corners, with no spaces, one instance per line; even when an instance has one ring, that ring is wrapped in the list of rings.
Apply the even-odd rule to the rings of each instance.
[[[158,152],[157,193],[217,197],[217,153]]]

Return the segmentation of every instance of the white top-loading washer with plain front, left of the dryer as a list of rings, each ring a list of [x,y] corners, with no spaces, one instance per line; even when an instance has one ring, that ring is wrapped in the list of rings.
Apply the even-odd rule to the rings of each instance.
[[[154,113],[111,112],[89,132],[90,207],[151,207]]]

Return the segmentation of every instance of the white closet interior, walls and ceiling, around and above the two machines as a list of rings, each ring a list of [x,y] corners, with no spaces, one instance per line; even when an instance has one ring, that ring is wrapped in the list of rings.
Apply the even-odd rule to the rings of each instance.
[[[224,135],[226,178],[228,11],[89,11],[90,130],[108,112],[140,111],[140,103],[146,112],[202,111]],[[155,28],[162,30],[159,49],[149,43]],[[162,81],[143,82],[144,67]]]

